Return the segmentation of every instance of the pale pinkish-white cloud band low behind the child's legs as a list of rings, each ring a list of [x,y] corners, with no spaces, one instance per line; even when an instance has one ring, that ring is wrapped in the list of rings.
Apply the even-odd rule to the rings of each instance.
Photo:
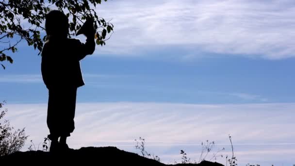
[[[41,142],[48,134],[46,104],[13,104],[7,105],[7,108],[6,118],[17,128],[26,127],[31,135],[29,139],[35,143]],[[266,157],[266,153],[255,153],[263,163],[277,155],[273,148],[284,150],[286,146],[289,149],[294,147],[295,133],[290,132],[295,128],[294,109],[294,103],[78,103],[76,129],[69,138],[69,145],[72,148],[118,146],[134,150],[134,139],[142,136],[155,154],[171,153],[170,157],[164,157],[164,162],[168,162],[171,156],[179,153],[178,148],[193,150],[192,147],[207,139],[216,141],[220,146],[228,145],[227,136],[230,133],[237,152],[250,154],[266,150]],[[240,160],[253,161],[244,153],[236,155]],[[284,154],[292,158],[291,152]]]

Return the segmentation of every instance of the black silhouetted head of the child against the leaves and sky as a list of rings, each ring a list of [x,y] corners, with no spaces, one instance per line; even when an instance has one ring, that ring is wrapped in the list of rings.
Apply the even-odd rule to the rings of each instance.
[[[63,12],[52,10],[46,15],[45,30],[49,39],[52,36],[56,38],[66,38],[68,28],[68,18]]]

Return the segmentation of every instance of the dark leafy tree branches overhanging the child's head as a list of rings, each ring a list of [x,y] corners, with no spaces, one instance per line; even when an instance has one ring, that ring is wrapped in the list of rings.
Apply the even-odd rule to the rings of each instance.
[[[98,17],[96,5],[102,0],[0,0],[0,62],[13,63],[10,54],[17,51],[17,44],[25,40],[29,46],[41,51],[46,35],[43,22],[50,8],[63,11],[69,18],[69,37],[75,35],[86,19],[94,19],[98,45],[105,45],[107,33],[112,33],[114,25]],[[107,0],[104,0],[107,1]],[[94,8],[92,8],[94,6]],[[4,69],[5,66],[0,64]]]

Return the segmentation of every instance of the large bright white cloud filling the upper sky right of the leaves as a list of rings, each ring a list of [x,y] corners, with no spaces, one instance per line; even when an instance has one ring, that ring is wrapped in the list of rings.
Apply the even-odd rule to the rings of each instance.
[[[110,1],[98,13],[113,18],[115,34],[97,54],[137,56],[170,46],[189,52],[180,58],[204,52],[294,57],[294,9],[290,0]]]

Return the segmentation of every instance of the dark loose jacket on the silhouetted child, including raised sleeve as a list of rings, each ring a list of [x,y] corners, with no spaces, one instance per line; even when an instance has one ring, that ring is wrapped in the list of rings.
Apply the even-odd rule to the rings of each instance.
[[[41,72],[48,89],[84,85],[80,60],[95,50],[94,38],[83,44],[78,39],[52,39],[42,50]]]

